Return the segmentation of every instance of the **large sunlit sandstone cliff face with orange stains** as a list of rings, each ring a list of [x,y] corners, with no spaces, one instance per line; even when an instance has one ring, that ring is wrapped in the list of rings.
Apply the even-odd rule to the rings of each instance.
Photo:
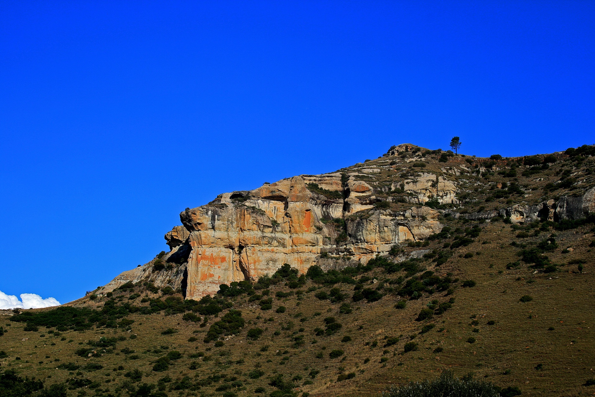
[[[365,263],[394,243],[440,231],[438,211],[427,207],[397,214],[377,210],[366,219],[343,221],[374,205],[361,201],[366,196],[365,203],[371,202],[367,183],[349,177],[344,187],[341,178],[338,173],[296,176],[249,192],[225,193],[208,205],[182,212],[187,232],[178,226],[165,238],[173,248],[190,246],[186,296],[198,298],[216,292],[222,283],[258,279],[284,263],[305,273],[322,252]],[[338,192],[340,198],[328,198],[309,189],[308,183]],[[345,222],[345,228],[333,219]],[[179,236],[186,235],[181,242]]]

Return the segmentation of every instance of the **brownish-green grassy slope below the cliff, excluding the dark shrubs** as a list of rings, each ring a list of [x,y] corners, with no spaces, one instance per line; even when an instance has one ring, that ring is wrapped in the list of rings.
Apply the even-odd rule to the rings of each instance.
[[[428,168],[437,168],[443,164],[432,163]],[[568,168],[569,165],[557,164],[547,171],[544,181],[555,179],[555,171],[559,167]],[[538,175],[544,176],[544,175]],[[550,176],[548,179],[547,176]],[[469,177],[469,186],[474,180]],[[490,182],[497,182],[498,177],[493,177]],[[527,182],[519,178],[519,183]],[[485,181],[484,181],[485,182]],[[464,183],[464,182],[461,182]],[[486,182],[487,183],[487,182]],[[528,182],[527,182],[528,183]],[[472,187],[468,188],[472,191]],[[481,192],[475,192],[480,196]],[[486,192],[486,194],[489,194]],[[505,203],[508,198],[488,202],[486,205],[494,206]],[[521,201],[523,198],[514,198]],[[482,200],[483,201],[483,200]],[[482,201],[471,202],[468,208],[477,206]],[[403,204],[395,204],[395,206]],[[466,207],[466,208],[467,208]],[[471,226],[474,223],[463,224],[463,221],[453,221],[454,227]],[[143,371],[145,377],[141,382],[158,383],[158,380],[168,375],[174,382],[166,384],[168,395],[222,395],[223,392],[215,392],[215,388],[223,384],[223,381],[214,383],[212,386],[205,386],[199,390],[170,390],[176,380],[189,376],[192,382],[205,379],[211,374],[225,374],[227,380],[237,377],[243,383],[245,391],[236,390],[238,395],[255,395],[256,387],[264,387],[268,393],[274,390],[268,385],[269,378],[275,373],[284,374],[284,380],[292,377],[301,377],[296,381],[296,386],[311,393],[311,395],[376,395],[377,392],[385,390],[390,385],[406,383],[408,380],[422,380],[427,377],[436,376],[441,370],[450,368],[455,374],[462,376],[469,371],[474,371],[479,377],[486,377],[486,380],[496,383],[499,386],[519,386],[523,395],[552,395],[552,396],[574,396],[593,394],[595,387],[581,386],[586,379],[595,377],[595,358],[591,352],[595,351],[593,329],[595,329],[595,315],[593,309],[593,285],[595,282],[594,252],[588,247],[591,240],[595,239],[593,232],[589,232],[593,225],[566,232],[556,232],[556,239],[560,245],[555,252],[547,255],[556,264],[564,264],[569,260],[582,259],[585,263],[584,272],[577,272],[576,265],[565,265],[559,268],[556,273],[533,273],[533,269],[523,264],[519,268],[506,270],[508,262],[518,260],[515,255],[519,250],[509,243],[516,239],[516,231],[510,225],[498,223],[481,224],[483,228],[481,235],[476,242],[469,246],[456,249],[453,257],[439,269],[440,276],[452,272],[452,277],[461,280],[472,279],[477,282],[475,287],[464,288],[458,283],[455,293],[455,305],[443,315],[436,316],[432,320],[422,323],[414,321],[421,308],[431,299],[439,299],[441,302],[449,297],[444,293],[435,293],[431,297],[424,294],[419,301],[409,301],[408,307],[404,310],[397,310],[394,304],[399,301],[397,296],[389,294],[378,302],[365,303],[365,301],[352,304],[354,308],[351,314],[340,314],[340,304],[331,304],[329,301],[320,301],[314,297],[314,292],[306,293],[302,300],[296,296],[286,299],[274,299],[273,310],[261,311],[255,303],[249,304],[246,296],[235,298],[234,308],[243,311],[246,318],[246,327],[239,335],[225,341],[221,348],[213,347],[213,343],[203,343],[202,339],[208,330],[207,327],[200,328],[198,324],[188,323],[181,320],[181,314],[164,316],[153,315],[130,315],[129,318],[136,320],[133,324],[133,333],[137,334],[136,339],[127,339],[117,343],[115,354],[106,354],[99,358],[84,358],[74,355],[74,350],[79,348],[80,342],[97,340],[100,336],[129,336],[130,333],[119,330],[100,329],[87,332],[68,331],[62,333],[61,337],[53,337],[48,333],[42,335],[43,329],[39,332],[24,332],[24,324],[8,321],[8,316],[1,316],[0,321],[9,331],[0,336],[0,350],[8,353],[8,358],[0,360],[2,368],[18,368],[23,375],[36,376],[46,380],[46,383],[61,382],[77,376],[76,371],[69,373],[67,370],[56,370],[57,364],[62,362],[77,362],[87,364],[88,362],[99,362],[104,368],[99,371],[83,371],[78,377],[98,382],[101,386],[96,389],[78,389],[71,391],[70,395],[75,396],[81,390],[86,395],[117,395],[118,387],[127,380],[124,376],[127,371],[138,368]],[[552,232],[543,232],[537,237],[522,239],[524,242],[537,242]],[[488,243],[482,244],[481,242]],[[429,249],[440,249],[443,241],[431,243]],[[561,249],[566,246],[574,247],[570,254],[561,254]],[[419,248],[406,248],[408,252]],[[464,259],[459,255],[466,252],[481,252],[474,257]],[[493,267],[490,267],[493,265]],[[424,267],[432,270],[434,264],[426,262]],[[383,270],[375,270],[369,276],[378,280],[386,278],[396,279],[400,274],[387,275]],[[311,282],[303,289],[313,286]],[[344,292],[351,293],[352,286],[337,285]],[[318,286],[320,287],[320,286]],[[326,290],[330,287],[325,287]],[[271,287],[271,296],[278,290],[288,291],[288,287],[277,285]],[[130,292],[131,293],[131,292]],[[130,293],[122,294],[122,299]],[[145,292],[143,292],[143,296]],[[149,294],[150,296],[157,296]],[[531,295],[532,302],[521,303],[519,298],[522,295]],[[134,301],[139,304],[140,298]],[[89,304],[90,302],[86,302]],[[101,302],[99,302],[101,305]],[[287,307],[284,314],[274,312],[278,305]],[[321,315],[314,315],[320,312]],[[300,315],[297,315],[301,313]],[[297,315],[297,317],[295,317]],[[342,329],[333,336],[315,336],[315,327],[324,327],[322,319],[327,316],[336,317],[339,323],[343,324]],[[479,333],[472,332],[471,316],[475,315],[479,324]],[[260,318],[259,318],[260,317]],[[264,321],[265,318],[273,317],[274,321]],[[531,318],[530,318],[531,317]],[[300,322],[300,318],[307,321]],[[215,320],[211,318],[209,325]],[[487,321],[493,320],[495,324],[488,326]],[[293,321],[291,330],[281,330],[288,321]],[[417,335],[424,324],[436,324],[436,328],[424,335]],[[10,324],[10,325],[8,325]],[[162,330],[174,327],[178,332],[174,335],[161,335]],[[246,332],[252,327],[265,329],[264,334],[256,341],[246,339]],[[303,327],[303,332],[300,332]],[[437,332],[444,327],[444,332]],[[553,327],[554,330],[548,330]],[[193,331],[198,331],[193,333]],[[273,336],[273,332],[281,330],[281,335]],[[303,346],[293,347],[290,339],[293,333],[305,335]],[[115,334],[115,335],[114,335]],[[402,354],[403,345],[409,342],[410,335],[417,335],[414,342],[419,343],[418,351]],[[191,336],[198,337],[196,342],[188,342]],[[342,343],[344,336],[351,336],[352,341]],[[399,336],[400,341],[394,346],[383,348],[384,337]],[[477,342],[468,343],[468,337],[474,336]],[[28,337],[28,340],[21,340]],[[70,342],[72,340],[72,342]],[[317,343],[312,343],[317,340]],[[372,348],[374,340],[378,346]],[[69,343],[70,342],[70,343]],[[55,343],[55,345],[52,345]],[[37,346],[37,347],[35,347]],[[152,362],[164,354],[155,352],[159,346],[167,346],[170,350],[177,349],[184,357],[175,361],[170,370],[165,373],[156,373],[151,370]],[[261,351],[268,346],[267,351]],[[131,360],[131,354],[120,353],[120,350],[128,347],[134,349],[137,360]],[[434,353],[437,347],[443,348],[440,353]],[[324,348],[324,350],[323,350]],[[345,355],[331,360],[328,353],[333,349],[343,349]],[[278,353],[277,353],[278,351]],[[288,354],[283,355],[284,351]],[[386,351],[386,352],[385,352]],[[189,358],[195,352],[205,352],[211,360],[203,358]],[[324,358],[316,358],[320,352]],[[49,356],[49,358],[46,358]],[[15,360],[20,357],[21,360]],[[289,360],[283,360],[289,357]],[[386,357],[387,361],[381,363],[381,358]],[[364,363],[369,358],[369,362]],[[60,362],[53,360],[60,359]],[[243,360],[243,362],[242,362]],[[270,362],[267,362],[270,360]],[[27,362],[29,361],[29,362]],[[43,364],[39,364],[43,361]],[[199,368],[190,370],[191,362],[197,362]],[[284,364],[281,364],[284,362]],[[400,365],[399,365],[400,364]],[[543,370],[535,370],[537,364],[543,364]],[[123,365],[124,370],[112,371]],[[258,367],[264,371],[264,376],[259,379],[249,379],[248,372]],[[309,376],[312,370],[320,371],[312,379]],[[505,375],[505,371],[510,373]],[[355,373],[352,380],[336,382],[340,373]],[[109,376],[106,376],[109,374]],[[106,380],[111,382],[106,382]],[[305,381],[311,381],[311,385],[304,385]],[[229,383],[229,382],[228,382]],[[138,385],[138,383],[136,383]],[[108,391],[109,390],[109,391]],[[120,392],[126,396],[125,391]]]

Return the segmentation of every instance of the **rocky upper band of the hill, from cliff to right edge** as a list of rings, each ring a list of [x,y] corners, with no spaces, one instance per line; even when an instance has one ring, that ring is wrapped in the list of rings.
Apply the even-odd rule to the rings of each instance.
[[[566,153],[549,156],[476,158],[403,144],[334,173],[223,193],[181,212],[182,226],[165,234],[170,252],[97,293],[143,281],[199,298],[223,283],[272,274],[284,263],[302,273],[314,264],[365,264],[393,245],[440,232],[444,216],[518,223],[595,212],[595,180],[586,168],[593,156],[580,164]],[[549,170],[556,163],[558,174]],[[562,186],[564,194],[551,195]]]

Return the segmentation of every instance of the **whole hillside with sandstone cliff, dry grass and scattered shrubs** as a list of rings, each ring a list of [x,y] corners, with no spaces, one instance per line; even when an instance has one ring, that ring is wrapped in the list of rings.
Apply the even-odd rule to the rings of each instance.
[[[404,144],[224,193],[143,267],[4,312],[0,370],[69,396],[376,395],[446,369],[592,395],[594,155]]]

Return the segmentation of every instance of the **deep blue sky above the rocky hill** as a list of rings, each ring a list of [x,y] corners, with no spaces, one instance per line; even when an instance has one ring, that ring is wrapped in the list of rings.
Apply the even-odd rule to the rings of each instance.
[[[595,143],[591,1],[0,3],[0,290],[61,302],[217,194],[410,142]]]

